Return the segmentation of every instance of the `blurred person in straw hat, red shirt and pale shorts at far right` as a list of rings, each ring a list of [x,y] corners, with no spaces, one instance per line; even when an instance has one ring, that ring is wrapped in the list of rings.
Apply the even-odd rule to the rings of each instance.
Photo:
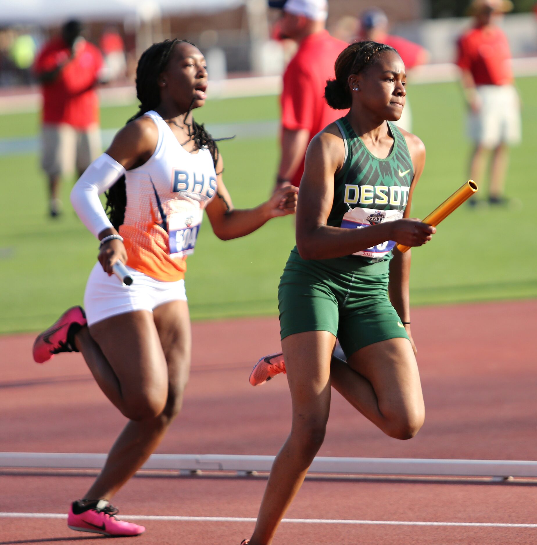
[[[470,178],[481,183],[492,152],[488,202],[504,204],[509,146],[520,142],[520,101],[513,85],[511,53],[506,35],[496,24],[512,9],[505,0],[474,0],[473,26],[457,41],[457,65],[468,105],[468,132],[474,142]],[[470,199],[475,205],[476,200]]]

